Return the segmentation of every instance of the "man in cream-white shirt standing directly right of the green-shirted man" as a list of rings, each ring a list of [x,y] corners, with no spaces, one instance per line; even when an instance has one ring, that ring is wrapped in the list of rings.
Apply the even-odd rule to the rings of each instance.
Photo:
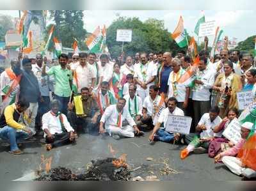
[[[79,53],[79,65],[73,68],[73,76],[77,86],[78,93],[81,93],[81,88],[89,88],[91,91],[95,85],[96,74],[93,72],[91,65],[87,63],[87,54]]]

